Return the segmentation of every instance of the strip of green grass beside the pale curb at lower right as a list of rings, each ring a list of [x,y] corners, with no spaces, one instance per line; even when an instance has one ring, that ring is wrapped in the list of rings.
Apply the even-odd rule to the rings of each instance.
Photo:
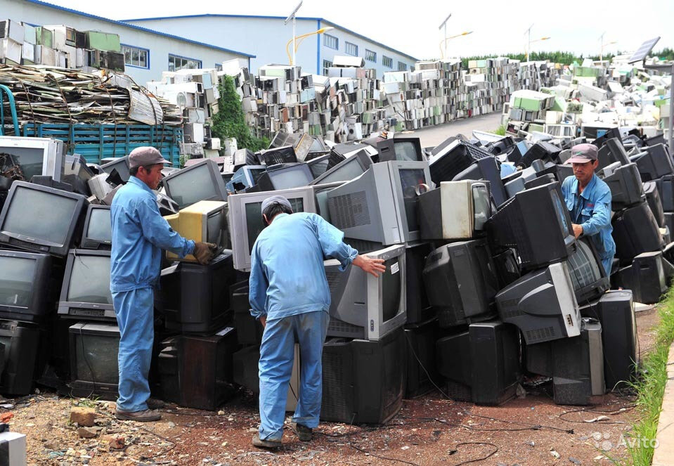
[[[640,380],[633,384],[637,391],[636,410],[639,413],[639,420],[632,426],[630,439],[640,441],[628,446],[630,454],[628,464],[635,466],[650,466],[653,460],[654,449],[650,440],[656,439],[667,382],[667,357],[674,339],[674,288],[669,290],[661,302],[658,313],[661,321],[656,333],[655,346],[642,361]]]

